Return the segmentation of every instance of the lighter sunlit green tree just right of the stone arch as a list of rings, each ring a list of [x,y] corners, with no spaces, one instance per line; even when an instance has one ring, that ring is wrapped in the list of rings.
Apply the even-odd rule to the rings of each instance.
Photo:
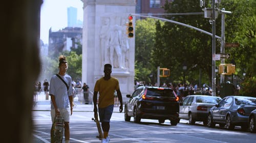
[[[150,75],[156,74],[157,67],[150,63],[150,55],[155,45],[155,19],[146,18],[136,21],[135,38],[135,80],[154,82]]]

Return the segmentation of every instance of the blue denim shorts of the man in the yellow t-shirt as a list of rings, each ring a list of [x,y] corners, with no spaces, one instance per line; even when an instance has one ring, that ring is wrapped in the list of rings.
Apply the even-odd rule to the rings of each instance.
[[[99,108],[99,122],[110,122],[114,105],[109,105],[105,108]]]

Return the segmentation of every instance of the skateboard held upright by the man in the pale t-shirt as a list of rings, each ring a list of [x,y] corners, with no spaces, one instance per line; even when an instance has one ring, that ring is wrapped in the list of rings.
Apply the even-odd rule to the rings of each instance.
[[[54,119],[54,134],[51,142],[62,143],[63,131],[64,131],[64,119],[61,116],[56,116]]]

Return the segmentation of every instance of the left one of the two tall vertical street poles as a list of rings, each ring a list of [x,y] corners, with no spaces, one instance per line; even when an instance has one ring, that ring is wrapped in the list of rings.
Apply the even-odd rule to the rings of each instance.
[[[215,54],[215,0],[212,0],[212,55]],[[211,61],[211,89],[212,89],[212,96],[216,96],[216,77],[215,77],[215,60]]]

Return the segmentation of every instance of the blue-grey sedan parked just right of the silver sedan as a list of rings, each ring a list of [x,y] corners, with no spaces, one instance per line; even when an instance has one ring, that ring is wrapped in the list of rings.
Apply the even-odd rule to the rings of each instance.
[[[234,126],[241,126],[242,130],[248,129],[250,112],[256,109],[256,98],[248,96],[227,96],[209,111],[207,126],[215,127],[219,124],[228,130]]]

